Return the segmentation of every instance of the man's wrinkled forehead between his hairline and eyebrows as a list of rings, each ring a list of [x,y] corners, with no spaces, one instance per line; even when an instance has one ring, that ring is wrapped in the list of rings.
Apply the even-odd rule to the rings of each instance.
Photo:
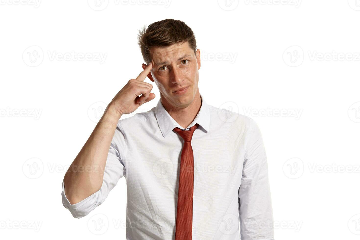
[[[155,64],[177,60],[184,55],[194,55],[194,51],[187,42],[166,47],[152,47],[150,53]]]

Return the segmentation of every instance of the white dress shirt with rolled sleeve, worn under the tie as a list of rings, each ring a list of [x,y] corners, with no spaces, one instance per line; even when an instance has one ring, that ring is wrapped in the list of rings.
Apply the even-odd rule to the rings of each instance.
[[[203,95],[194,121],[193,240],[273,240],[267,160],[261,133],[249,117],[208,105]],[[81,218],[126,178],[127,240],[174,240],[181,127],[161,100],[148,112],[120,119],[99,191],[64,207]],[[125,207],[125,206],[124,206]],[[240,226],[240,233],[239,233]]]

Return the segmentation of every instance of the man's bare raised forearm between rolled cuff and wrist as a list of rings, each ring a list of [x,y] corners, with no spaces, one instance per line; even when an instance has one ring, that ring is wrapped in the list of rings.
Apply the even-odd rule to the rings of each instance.
[[[122,115],[107,108],[89,139],[64,176],[65,194],[71,204],[80,202],[98,191],[117,122]]]

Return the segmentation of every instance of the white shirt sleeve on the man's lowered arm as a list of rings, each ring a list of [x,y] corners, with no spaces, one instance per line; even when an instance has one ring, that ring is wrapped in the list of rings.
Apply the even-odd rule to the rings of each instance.
[[[251,120],[239,188],[242,240],[274,240],[267,158],[260,129]]]

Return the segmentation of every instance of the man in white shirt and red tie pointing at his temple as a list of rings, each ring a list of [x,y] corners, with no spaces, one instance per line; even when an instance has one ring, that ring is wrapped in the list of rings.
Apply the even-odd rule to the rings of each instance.
[[[165,19],[140,31],[139,45],[144,71],[109,103],[70,166],[64,207],[86,216],[125,176],[128,240],[274,239],[261,133],[252,119],[205,102],[193,31]],[[119,121],[155,98],[146,77],[159,89],[157,106]]]

